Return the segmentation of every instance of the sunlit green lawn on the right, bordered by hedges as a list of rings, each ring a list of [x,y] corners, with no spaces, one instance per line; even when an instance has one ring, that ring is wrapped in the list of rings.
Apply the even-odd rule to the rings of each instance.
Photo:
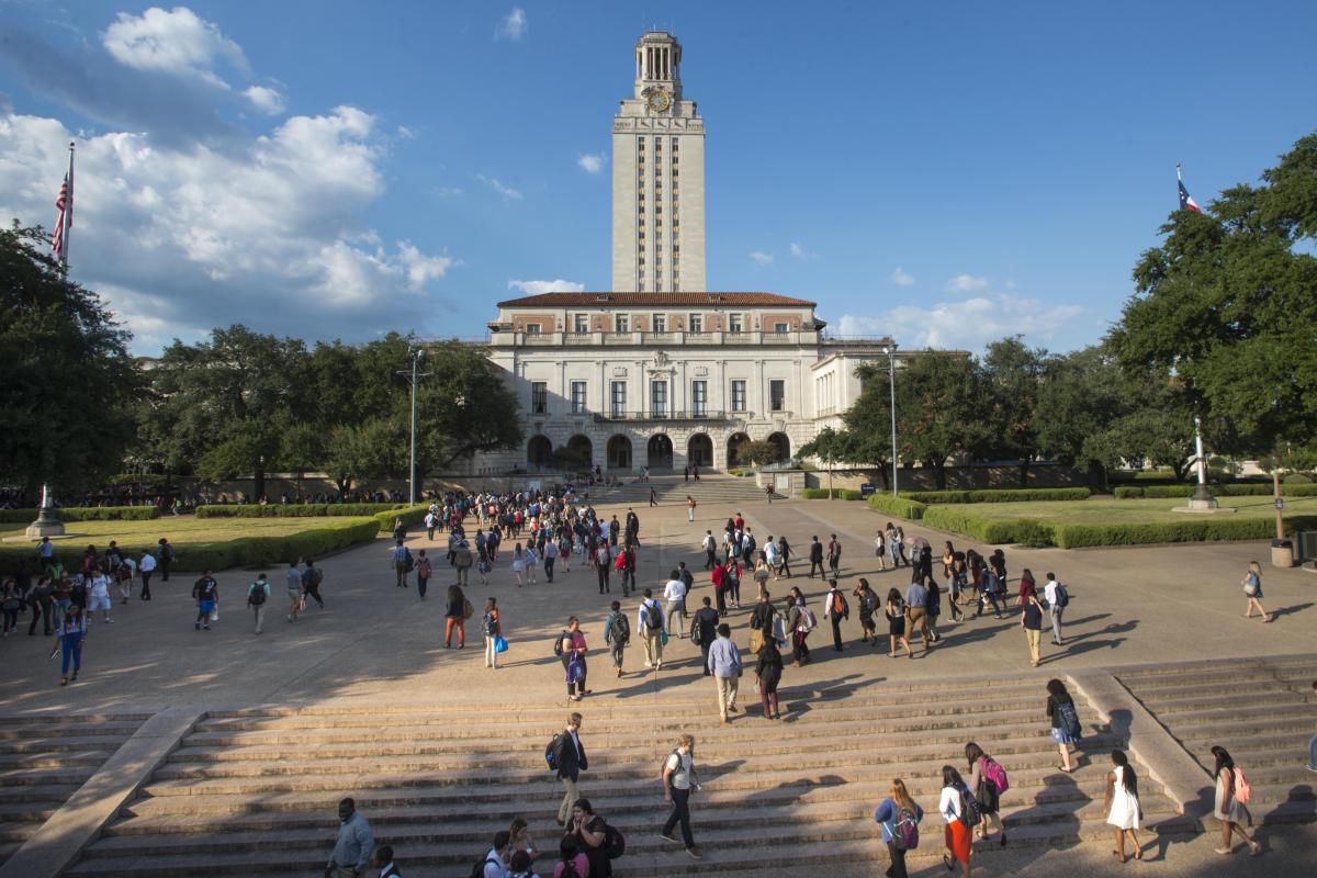
[[[1055,503],[976,503],[973,513],[985,519],[1035,519],[1047,524],[1138,524],[1156,521],[1185,521],[1200,516],[1172,512],[1185,505],[1185,499],[1172,500],[1072,500]],[[1229,519],[1270,519],[1275,515],[1275,502],[1268,496],[1220,498],[1222,507],[1237,512],[1223,513]],[[1285,500],[1285,515],[1317,515],[1317,496]],[[1202,516],[1205,517],[1205,516]],[[1212,516],[1218,517],[1218,516]]]

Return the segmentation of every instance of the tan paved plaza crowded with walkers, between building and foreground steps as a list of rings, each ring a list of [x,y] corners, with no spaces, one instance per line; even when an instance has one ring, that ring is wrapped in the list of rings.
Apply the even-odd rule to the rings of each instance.
[[[711,507],[702,505],[694,524],[686,521],[684,507],[636,507],[641,517],[641,586],[661,590],[668,570],[677,561],[686,561],[697,574],[691,609],[699,606],[699,598],[712,594],[701,569],[703,554],[698,542],[705,529],[719,536],[735,509]],[[602,509],[606,517],[612,512],[623,517],[626,511],[607,504]],[[769,505],[760,502],[740,512],[761,545],[769,533],[785,532],[801,557],[811,534],[826,542],[830,533],[838,533],[844,546],[842,578],[847,591],[860,575],[880,594],[893,586],[903,590],[907,582],[905,569],[877,573],[872,538],[886,519],[860,503],[801,500]],[[927,537],[939,555],[947,538],[957,548],[972,545],[915,524],[907,524],[906,533]],[[552,654],[551,641],[570,613],[581,616],[595,656],[591,667],[595,695],[591,698],[662,699],[670,694],[707,691],[712,702],[711,687],[703,688],[709,682],[699,674],[698,650],[682,640],[674,638],[669,645],[668,663],[661,673],[641,674],[640,650],[632,649],[627,656],[630,673],[620,681],[612,678],[602,628],[608,599],[620,599],[616,574],[608,596],[598,595],[594,574],[581,567],[570,574],[560,573],[552,584],[544,582],[541,571],[539,584],[516,588],[508,567],[510,552],[503,554],[489,586],[468,588],[477,609],[487,595],[499,600],[512,645],[504,656],[506,666],[498,671],[483,667],[478,617],[470,623],[466,649],[445,650],[444,591],[450,577],[443,561],[444,544],[429,544],[420,532],[410,545],[414,552],[432,545],[439,555],[429,600],[417,599],[415,583],[408,590],[394,586],[387,563],[389,544],[382,540],[324,559],[321,591],[328,608],[312,608],[295,624],[286,623],[281,613],[282,570],[270,570],[275,598],[261,636],[252,632],[250,612],[242,608],[246,584],[255,571],[220,574],[221,620],[208,632],[192,628],[191,577],[153,583],[155,600],[116,606],[113,624],[94,623],[84,670],[78,683],[68,688],[59,687],[58,666],[46,658],[47,640],[29,638],[24,633],[11,636],[0,641],[0,661],[8,670],[9,683],[0,690],[0,715],[163,710],[175,704],[213,710],[262,703],[315,704],[327,699],[360,699],[363,704],[443,699],[561,703],[565,694],[562,671]],[[1044,638],[1042,667],[1029,667],[1015,619],[985,617],[950,624],[944,612],[943,644],[915,661],[889,659],[885,650],[859,645],[855,619],[843,629],[848,641],[844,653],[834,653],[827,644],[830,632],[819,631],[811,637],[815,661],[805,669],[789,667],[784,686],[807,683],[815,688],[835,688],[876,678],[928,679],[1001,671],[1036,678],[1042,691],[1050,677],[1085,669],[1317,653],[1317,577],[1299,570],[1272,570],[1266,557],[1264,542],[1081,552],[1008,550],[1013,581],[1023,567],[1030,567],[1039,582],[1046,571],[1055,570],[1071,587],[1068,644],[1055,649]],[[1238,582],[1246,563],[1255,558],[1264,562],[1266,604],[1275,613],[1270,624],[1242,617],[1245,598]],[[807,561],[797,566],[802,573],[809,567]],[[940,573],[938,565],[935,570]],[[819,598],[826,591],[824,583],[797,575],[790,584],[801,586],[822,609]],[[786,587],[786,582],[770,584],[774,598],[785,595]],[[744,591],[745,609],[731,613],[734,627],[741,629],[736,638],[743,646],[753,595],[748,577]],[[633,615],[636,599],[624,606]],[[25,632],[25,627],[20,632]],[[1210,854],[1213,840],[1214,836],[1205,835],[1184,845],[1176,844],[1164,864],[1147,864],[1141,869],[1168,875],[1243,874],[1242,860],[1225,865],[1223,858]],[[1310,825],[1276,832],[1268,844],[1277,853],[1288,850],[1289,854],[1268,857],[1267,873],[1312,874],[1310,858],[1304,860],[1300,852],[1310,852],[1314,840],[1317,836]],[[1206,856],[1200,849],[1206,850]],[[1062,853],[1056,852],[1056,857]],[[1296,856],[1299,860],[1293,860]],[[1084,874],[1115,874],[1108,869],[1114,862],[1105,858],[1109,853],[1088,848],[1064,852],[1064,858],[1054,858],[1052,853],[1034,854],[1030,862],[1019,864],[1018,874],[1073,870],[1076,862],[1083,864]],[[1305,862],[1306,870],[1289,871],[1299,862]],[[1197,871],[1185,870],[1180,864],[1196,864]]]

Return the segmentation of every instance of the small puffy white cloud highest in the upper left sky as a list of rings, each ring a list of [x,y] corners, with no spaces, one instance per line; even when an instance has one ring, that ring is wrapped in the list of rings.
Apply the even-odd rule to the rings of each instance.
[[[242,49],[217,25],[186,7],[170,12],[151,7],[141,16],[120,12],[100,37],[105,50],[121,65],[195,75],[221,88],[228,84],[215,72],[216,61],[224,59],[242,71],[248,68]]]

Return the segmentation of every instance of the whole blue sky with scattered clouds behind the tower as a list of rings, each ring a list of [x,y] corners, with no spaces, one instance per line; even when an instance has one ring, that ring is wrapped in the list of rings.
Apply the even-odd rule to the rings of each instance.
[[[1096,341],[1175,163],[1205,204],[1317,103],[1297,1],[0,0],[0,216],[54,222],[74,136],[72,272],[140,353],[232,321],[478,337],[514,282],[607,288],[651,25],[709,130],[710,288],[905,346]]]

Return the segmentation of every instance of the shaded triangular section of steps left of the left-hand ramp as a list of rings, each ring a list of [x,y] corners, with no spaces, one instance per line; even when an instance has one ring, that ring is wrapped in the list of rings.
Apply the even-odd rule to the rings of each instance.
[[[148,716],[65,713],[0,720],[0,864],[40,829]]]

